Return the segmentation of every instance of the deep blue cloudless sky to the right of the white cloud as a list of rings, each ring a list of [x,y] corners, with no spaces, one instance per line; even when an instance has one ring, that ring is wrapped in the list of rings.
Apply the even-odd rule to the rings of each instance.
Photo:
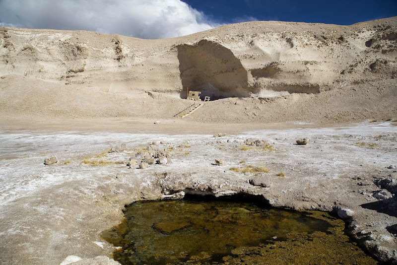
[[[280,20],[351,25],[397,16],[397,0],[184,0],[211,20]]]

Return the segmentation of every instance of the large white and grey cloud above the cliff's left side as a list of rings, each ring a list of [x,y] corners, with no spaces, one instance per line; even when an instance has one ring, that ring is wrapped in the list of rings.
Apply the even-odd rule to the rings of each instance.
[[[143,39],[220,26],[181,0],[0,0],[0,25],[90,30]]]

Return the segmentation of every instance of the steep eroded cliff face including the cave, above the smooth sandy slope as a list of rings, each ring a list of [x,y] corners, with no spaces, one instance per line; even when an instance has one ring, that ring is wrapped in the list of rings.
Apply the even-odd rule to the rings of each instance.
[[[397,77],[397,17],[351,26],[253,21],[161,40],[1,27],[0,76],[2,90],[23,77],[107,96],[185,98],[188,87],[212,99],[317,94]]]

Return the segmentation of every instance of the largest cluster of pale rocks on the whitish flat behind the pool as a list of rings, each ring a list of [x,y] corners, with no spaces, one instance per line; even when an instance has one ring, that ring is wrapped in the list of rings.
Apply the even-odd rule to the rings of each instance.
[[[152,164],[165,165],[171,163],[171,155],[167,152],[167,148],[156,150],[154,145],[155,142],[145,150],[137,152],[135,156],[130,157],[127,165],[130,168],[135,168],[138,165],[140,169],[146,169]]]

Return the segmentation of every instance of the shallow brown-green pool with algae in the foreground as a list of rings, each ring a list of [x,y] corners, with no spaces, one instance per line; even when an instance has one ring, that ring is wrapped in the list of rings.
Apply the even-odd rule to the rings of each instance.
[[[137,201],[102,233],[123,265],[377,264],[325,212],[225,200]]]

